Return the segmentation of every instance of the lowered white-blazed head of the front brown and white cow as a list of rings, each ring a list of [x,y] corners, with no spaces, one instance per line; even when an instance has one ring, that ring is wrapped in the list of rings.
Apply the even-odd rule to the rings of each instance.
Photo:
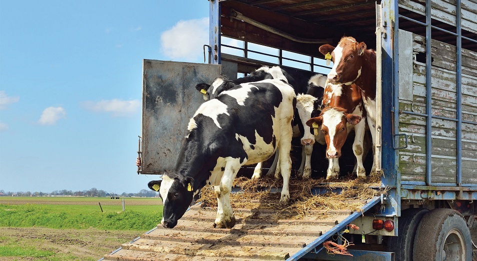
[[[356,125],[362,118],[360,115],[348,114],[344,111],[340,107],[326,107],[319,116],[306,121],[306,125],[310,127],[313,123],[321,125],[326,141],[327,158],[341,156],[341,147],[348,136],[347,124]]]

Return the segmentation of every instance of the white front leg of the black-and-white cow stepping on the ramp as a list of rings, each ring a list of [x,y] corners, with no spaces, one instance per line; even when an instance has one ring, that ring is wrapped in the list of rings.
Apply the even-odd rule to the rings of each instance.
[[[240,169],[239,159],[229,160],[225,163],[220,185],[213,186],[213,191],[217,196],[217,215],[213,227],[232,228],[235,225],[235,216],[233,215],[232,206],[230,205],[230,190],[232,189],[232,181]]]

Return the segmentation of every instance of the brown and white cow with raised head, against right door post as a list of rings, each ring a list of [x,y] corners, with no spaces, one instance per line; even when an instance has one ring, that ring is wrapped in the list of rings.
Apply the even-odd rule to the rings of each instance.
[[[353,37],[342,37],[336,47],[323,44],[319,47],[322,54],[330,53],[333,67],[328,73],[328,81],[334,84],[356,84],[362,96],[366,110],[366,120],[371,131],[372,149],[375,145],[376,126],[376,52],[366,48],[364,42]],[[375,172],[373,160],[371,173]]]

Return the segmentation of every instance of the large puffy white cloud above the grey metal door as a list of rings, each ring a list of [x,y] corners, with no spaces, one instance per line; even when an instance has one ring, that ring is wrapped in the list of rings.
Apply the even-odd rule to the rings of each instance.
[[[194,61],[203,57],[208,44],[208,17],[180,20],[160,35],[161,50],[170,58]]]

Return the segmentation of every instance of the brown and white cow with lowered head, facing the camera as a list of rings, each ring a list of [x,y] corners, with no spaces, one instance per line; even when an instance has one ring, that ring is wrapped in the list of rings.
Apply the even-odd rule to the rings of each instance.
[[[323,105],[325,106],[317,117],[306,121],[312,127],[313,123],[321,125],[326,141],[326,157],[328,170],[326,179],[337,178],[339,175],[338,157],[341,156],[341,147],[346,141],[348,133],[354,129],[353,152],[356,156],[356,175],[358,178],[366,176],[363,166],[363,140],[366,130],[361,91],[355,84],[327,83],[324,89]]]

